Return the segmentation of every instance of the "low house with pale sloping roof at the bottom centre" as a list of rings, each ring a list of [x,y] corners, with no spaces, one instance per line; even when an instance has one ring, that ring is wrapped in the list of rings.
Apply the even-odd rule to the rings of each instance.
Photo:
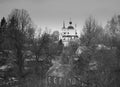
[[[75,75],[67,64],[53,65],[46,76],[46,87],[78,87],[82,84],[81,77]]]

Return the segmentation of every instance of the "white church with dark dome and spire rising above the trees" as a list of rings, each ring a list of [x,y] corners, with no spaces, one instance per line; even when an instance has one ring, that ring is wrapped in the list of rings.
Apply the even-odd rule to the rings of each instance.
[[[69,26],[65,26],[63,22],[63,27],[60,33],[60,39],[63,41],[64,46],[67,46],[70,41],[74,41],[78,38],[76,26],[72,25],[72,21],[69,22]]]

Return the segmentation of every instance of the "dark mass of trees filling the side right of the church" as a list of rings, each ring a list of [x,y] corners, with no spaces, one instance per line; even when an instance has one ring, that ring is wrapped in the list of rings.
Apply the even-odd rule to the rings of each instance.
[[[120,16],[113,16],[104,28],[89,17],[78,43],[79,59],[73,70],[81,75],[84,86],[119,87]]]

